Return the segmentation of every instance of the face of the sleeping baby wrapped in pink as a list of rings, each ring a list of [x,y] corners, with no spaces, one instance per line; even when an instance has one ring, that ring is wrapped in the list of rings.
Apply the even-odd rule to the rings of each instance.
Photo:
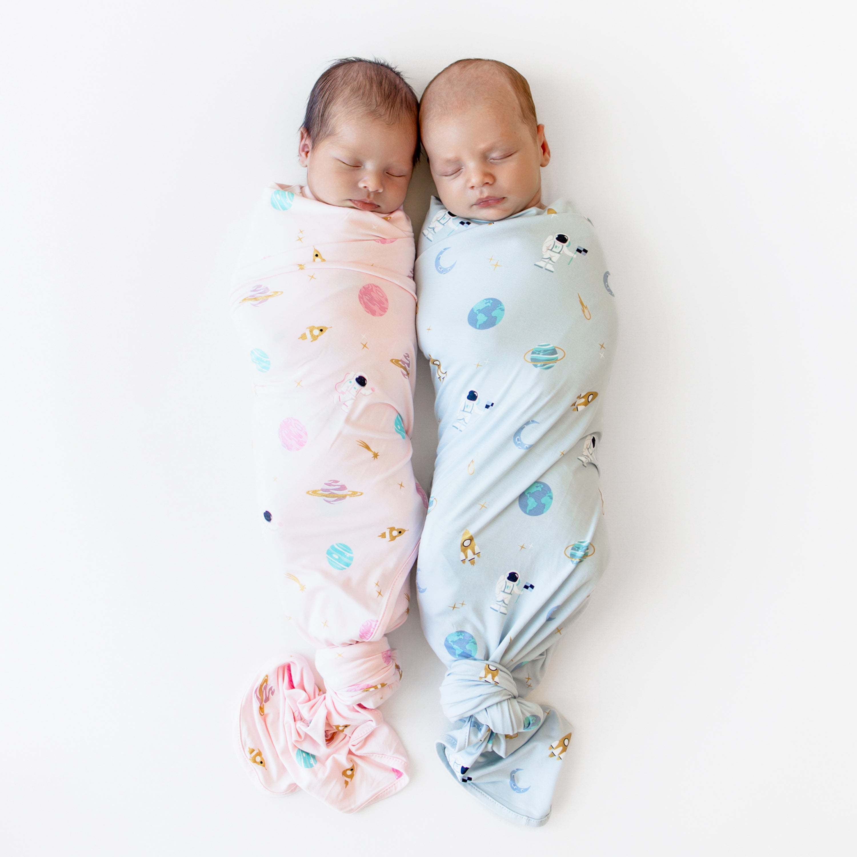
[[[342,117],[318,145],[301,129],[298,159],[315,199],[328,205],[389,214],[405,201],[417,129],[357,115]]]

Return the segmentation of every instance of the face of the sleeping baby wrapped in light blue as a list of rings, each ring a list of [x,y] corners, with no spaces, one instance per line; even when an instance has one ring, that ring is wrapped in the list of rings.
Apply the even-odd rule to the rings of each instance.
[[[511,99],[431,111],[421,130],[434,184],[452,213],[501,220],[541,203],[541,167],[550,160],[544,126],[533,134]]]

